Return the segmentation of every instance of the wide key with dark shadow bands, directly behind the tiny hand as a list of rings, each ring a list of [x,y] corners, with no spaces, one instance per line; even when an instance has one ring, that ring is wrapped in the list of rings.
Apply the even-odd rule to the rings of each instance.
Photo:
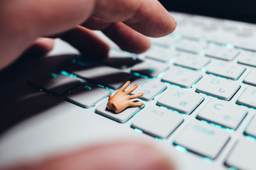
[[[133,76],[130,73],[120,71],[120,69],[100,65],[79,66],[74,64],[67,71],[76,74],[80,78],[92,81],[93,83],[99,83],[111,89],[119,89]]]

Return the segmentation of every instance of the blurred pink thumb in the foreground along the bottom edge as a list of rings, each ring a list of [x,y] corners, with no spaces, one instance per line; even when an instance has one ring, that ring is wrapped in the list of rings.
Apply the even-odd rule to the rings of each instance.
[[[150,145],[134,142],[109,143],[52,157],[36,164],[6,170],[174,170],[172,162]]]

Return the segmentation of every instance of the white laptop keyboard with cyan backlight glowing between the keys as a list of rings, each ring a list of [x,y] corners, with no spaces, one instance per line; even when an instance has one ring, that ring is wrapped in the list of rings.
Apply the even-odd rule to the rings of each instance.
[[[255,169],[256,25],[173,16],[177,30],[150,38],[148,52],[134,55],[113,46],[100,64],[74,59],[47,81],[29,85],[186,153],[214,161],[225,150],[223,166]],[[143,92],[138,100],[144,106],[120,114],[106,110],[108,95],[127,80],[138,83],[132,94]]]

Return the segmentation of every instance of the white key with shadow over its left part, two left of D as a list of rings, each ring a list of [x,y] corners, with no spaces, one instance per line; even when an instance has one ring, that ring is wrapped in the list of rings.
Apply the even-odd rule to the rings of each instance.
[[[145,60],[140,64],[132,67],[132,72],[140,73],[149,77],[156,77],[166,69],[168,69],[168,64],[164,64],[163,62],[157,62],[153,60]]]

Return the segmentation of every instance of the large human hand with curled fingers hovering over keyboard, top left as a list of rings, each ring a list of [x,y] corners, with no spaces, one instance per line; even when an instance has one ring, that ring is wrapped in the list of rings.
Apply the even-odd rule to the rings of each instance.
[[[1,70],[26,50],[35,55],[51,50],[54,41],[45,37],[60,37],[97,58],[106,56],[109,46],[91,29],[123,50],[141,53],[150,46],[145,36],[170,34],[177,24],[156,0],[2,0],[0,25]]]

